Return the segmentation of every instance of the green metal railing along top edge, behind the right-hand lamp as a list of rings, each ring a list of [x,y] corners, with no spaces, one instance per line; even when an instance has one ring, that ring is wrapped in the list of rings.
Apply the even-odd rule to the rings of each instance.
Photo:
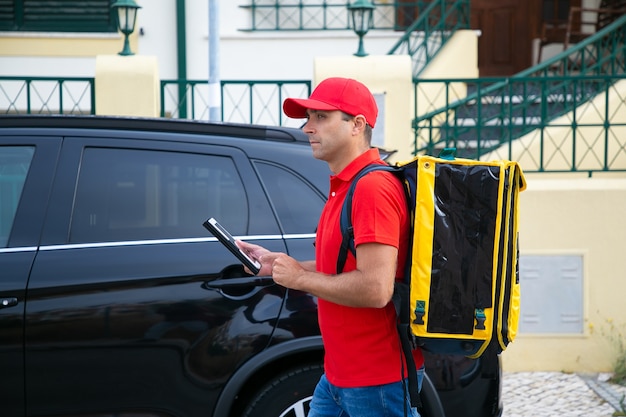
[[[469,0],[468,0],[469,2]],[[240,6],[250,11],[251,27],[244,31],[350,30],[349,0],[294,0],[291,2],[251,0]],[[374,27],[406,30],[429,0],[373,1]]]

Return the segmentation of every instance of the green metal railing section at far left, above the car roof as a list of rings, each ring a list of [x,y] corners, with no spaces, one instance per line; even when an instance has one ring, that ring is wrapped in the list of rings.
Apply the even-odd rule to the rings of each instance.
[[[95,114],[93,78],[0,76],[0,114]]]

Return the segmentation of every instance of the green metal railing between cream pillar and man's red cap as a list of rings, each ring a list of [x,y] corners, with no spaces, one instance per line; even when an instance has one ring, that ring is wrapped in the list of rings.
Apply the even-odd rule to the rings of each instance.
[[[308,97],[310,80],[222,80],[219,98],[209,97],[206,80],[162,80],[161,117],[209,119],[210,103],[220,103],[221,120],[271,126],[301,125],[284,116],[287,97]]]

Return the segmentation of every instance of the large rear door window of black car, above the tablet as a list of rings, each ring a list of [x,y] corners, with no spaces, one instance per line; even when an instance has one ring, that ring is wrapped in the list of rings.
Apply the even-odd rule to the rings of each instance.
[[[70,242],[206,237],[202,222],[209,216],[246,234],[248,202],[231,158],[87,148]]]

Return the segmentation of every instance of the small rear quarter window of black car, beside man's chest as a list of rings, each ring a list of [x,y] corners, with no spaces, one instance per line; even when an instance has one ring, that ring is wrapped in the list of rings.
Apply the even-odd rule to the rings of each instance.
[[[324,199],[304,179],[282,167],[256,162],[283,233],[315,233]]]

